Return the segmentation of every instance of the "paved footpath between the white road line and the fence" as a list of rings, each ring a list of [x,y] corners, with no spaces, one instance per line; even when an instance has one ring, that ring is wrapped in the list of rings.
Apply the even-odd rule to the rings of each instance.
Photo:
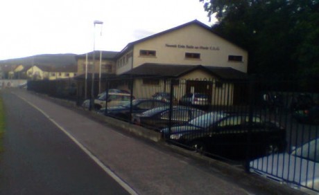
[[[71,102],[24,89],[12,93],[44,113],[130,194],[301,194],[241,167],[168,145],[146,129]]]

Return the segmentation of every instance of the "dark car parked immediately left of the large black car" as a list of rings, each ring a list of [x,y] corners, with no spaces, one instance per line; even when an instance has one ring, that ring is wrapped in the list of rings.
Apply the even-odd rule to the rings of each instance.
[[[169,113],[169,106],[158,107],[133,115],[132,122],[160,131],[160,129],[169,126]],[[188,106],[173,106],[171,112],[171,124],[183,124],[204,113],[205,111]]]

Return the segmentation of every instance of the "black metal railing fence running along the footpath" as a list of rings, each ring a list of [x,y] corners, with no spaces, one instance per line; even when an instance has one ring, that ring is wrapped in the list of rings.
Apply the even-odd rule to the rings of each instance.
[[[79,93],[83,86],[77,85],[75,91],[74,84],[74,81],[28,82],[28,90],[83,105],[84,95]],[[105,109],[101,105],[92,107],[102,114],[160,131],[166,141],[186,149],[243,163],[247,171],[294,187],[319,190],[316,88],[304,91],[298,82],[290,81],[166,77],[122,77],[107,80],[103,88],[104,99],[100,103],[92,101],[105,102]],[[123,95],[125,100],[123,97],[117,100],[117,104],[126,106],[114,107],[115,99],[111,97],[115,98],[116,93],[127,94]],[[135,105],[140,99],[166,104]]]

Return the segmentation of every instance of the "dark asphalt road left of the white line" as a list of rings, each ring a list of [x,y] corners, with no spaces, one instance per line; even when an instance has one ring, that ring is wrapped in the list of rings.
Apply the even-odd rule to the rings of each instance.
[[[0,194],[128,194],[40,111],[8,91]]]

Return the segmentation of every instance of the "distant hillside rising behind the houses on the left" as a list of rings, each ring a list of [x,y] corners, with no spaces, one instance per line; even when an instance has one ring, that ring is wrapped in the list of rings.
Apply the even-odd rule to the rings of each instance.
[[[76,66],[76,54],[43,54],[30,57],[0,60],[1,65]]]

